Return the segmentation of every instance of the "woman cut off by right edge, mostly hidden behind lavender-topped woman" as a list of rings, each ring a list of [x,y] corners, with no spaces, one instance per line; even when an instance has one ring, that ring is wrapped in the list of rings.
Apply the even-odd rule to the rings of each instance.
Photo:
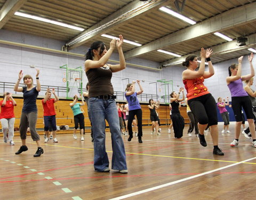
[[[251,89],[251,86],[253,85],[253,78],[250,78],[249,80],[245,81],[246,85],[244,86],[244,90],[249,94],[249,97],[252,101],[252,113],[253,113],[253,121],[254,124],[256,123],[256,92]],[[250,133],[249,127],[247,127],[246,130],[242,131],[245,138],[251,139],[252,135]]]

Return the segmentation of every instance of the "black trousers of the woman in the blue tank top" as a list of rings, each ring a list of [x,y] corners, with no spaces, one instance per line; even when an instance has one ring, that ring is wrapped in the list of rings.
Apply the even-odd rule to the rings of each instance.
[[[138,122],[138,137],[142,137],[142,110],[141,109],[129,110],[128,124],[127,124],[129,135],[132,136],[132,121],[135,115],[137,116],[137,122]]]

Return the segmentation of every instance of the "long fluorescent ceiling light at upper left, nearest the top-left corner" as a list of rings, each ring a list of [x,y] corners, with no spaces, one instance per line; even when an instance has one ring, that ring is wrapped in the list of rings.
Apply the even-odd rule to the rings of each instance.
[[[15,12],[14,15],[18,15],[20,17],[25,17],[25,18],[30,18],[30,19],[35,19],[35,20],[38,20],[38,21],[46,22],[46,23],[52,23],[53,25],[58,25],[58,26],[66,27],[66,28],[71,28],[71,29],[79,30],[79,31],[83,31],[84,30],[83,28],[80,28],[80,27],[76,27],[76,26],[72,26],[72,25],[67,25],[66,23],[62,23],[62,22],[59,22],[59,21],[53,21],[53,20],[50,20],[50,19],[45,19],[45,18],[37,17],[37,16],[31,15],[31,14],[26,14],[26,13],[23,13],[23,12]]]

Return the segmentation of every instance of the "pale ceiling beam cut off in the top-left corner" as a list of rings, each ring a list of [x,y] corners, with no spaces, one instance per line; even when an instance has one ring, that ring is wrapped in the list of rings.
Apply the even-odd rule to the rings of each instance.
[[[27,0],[7,0],[0,10],[0,29],[13,17],[13,14],[25,4]]]

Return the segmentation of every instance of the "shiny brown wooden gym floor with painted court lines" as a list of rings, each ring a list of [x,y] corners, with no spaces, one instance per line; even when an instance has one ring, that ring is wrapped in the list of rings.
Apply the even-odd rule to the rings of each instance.
[[[252,140],[240,135],[238,147],[230,147],[231,134],[221,134],[219,147],[224,156],[212,154],[210,133],[205,133],[207,147],[198,138],[175,139],[173,131],[150,135],[143,127],[143,143],[134,137],[131,142],[123,136],[129,173],[94,172],[93,143],[90,135],[85,141],[72,134],[58,135],[59,143],[44,143],[44,154],[33,157],[36,144],[27,139],[28,151],[15,155],[21,146],[0,142],[0,199],[255,199],[256,149]],[[106,149],[111,163],[110,133]],[[111,165],[110,165],[111,168]]]

